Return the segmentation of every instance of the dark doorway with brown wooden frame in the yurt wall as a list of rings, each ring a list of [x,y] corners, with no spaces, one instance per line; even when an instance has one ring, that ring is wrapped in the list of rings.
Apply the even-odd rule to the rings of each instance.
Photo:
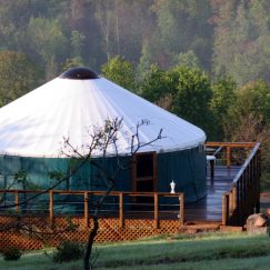
[[[133,157],[132,166],[133,191],[154,192],[157,191],[157,153],[137,153]],[[147,197],[143,199],[149,201]]]

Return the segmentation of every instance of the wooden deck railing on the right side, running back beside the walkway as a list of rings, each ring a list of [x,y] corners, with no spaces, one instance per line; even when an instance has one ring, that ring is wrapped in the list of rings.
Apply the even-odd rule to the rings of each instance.
[[[222,196],[222,224],[243,226],[249,214],[260,211],[260,143],[231,143],[224,147],[243,147],[249,151],[231,189]]]

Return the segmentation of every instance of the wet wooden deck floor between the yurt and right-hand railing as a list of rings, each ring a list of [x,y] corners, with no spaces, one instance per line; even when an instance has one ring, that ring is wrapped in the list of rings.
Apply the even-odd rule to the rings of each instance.
[[[192,222],[220,222],[222,220],[222,194],[231,189],[233,178],[240,166],[216,166],[214,178],[208,171],[207,196],[192,203],[184,204],[184,220]]]

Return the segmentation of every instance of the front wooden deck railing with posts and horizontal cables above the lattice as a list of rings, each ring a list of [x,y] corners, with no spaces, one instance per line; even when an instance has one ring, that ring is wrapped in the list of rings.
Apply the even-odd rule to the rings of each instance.
[[[68,213],[84,217],[89,228],[94,203],[104,192],[0,190],[0,214],[47,214],[53,223],[54,217]],[[178,219],[183,224],[183,193],[112,191],[101,209],[100,217],[118,218],[120,228],[126,218],[154,220],[156,229],[162,219]]]

